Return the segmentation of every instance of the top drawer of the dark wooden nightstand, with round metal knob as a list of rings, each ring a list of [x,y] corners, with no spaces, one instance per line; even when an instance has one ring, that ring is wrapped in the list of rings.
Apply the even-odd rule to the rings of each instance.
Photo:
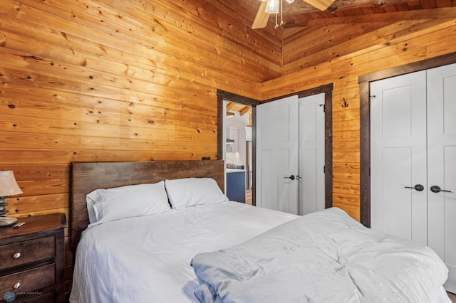
[[[0,246],[0,270],[56,255],[54,236]],[[1,292],[0,292],[1,294]]]

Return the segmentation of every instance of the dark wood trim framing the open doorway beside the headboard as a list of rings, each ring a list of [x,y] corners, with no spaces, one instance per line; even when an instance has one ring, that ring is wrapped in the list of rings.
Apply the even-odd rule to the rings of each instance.
[[[223,117],[223,101],[229,100],[232,102],[248,105],[252,107],[252,170],[257,169],[257,105],[261,101],[249,97],[233,94],[232,92],[225,92],[217,90],[217,159],[223,159],[223,131],[224,131],[224,117]],[[252,176],[252,205],[257,205],[257,195],[254,191],[257,184],[257,176]]]

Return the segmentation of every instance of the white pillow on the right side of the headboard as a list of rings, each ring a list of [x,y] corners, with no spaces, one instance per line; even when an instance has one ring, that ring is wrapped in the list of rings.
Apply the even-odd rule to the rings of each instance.
[[[175,209],[228,201],[212,178],[166,180],[165,187],[171,206]]]

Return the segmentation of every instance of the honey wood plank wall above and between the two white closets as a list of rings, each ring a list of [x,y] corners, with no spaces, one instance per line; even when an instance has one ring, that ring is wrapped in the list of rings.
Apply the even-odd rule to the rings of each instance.
[[[360,113],[358,76],[394,68],[438,55],[456,52],[456,19],[418,20],[391,24],[366,24],[331,27],[337,41],[337,28],[352,38],[338,47],[313,48],[299,55],[296,46],[316,44],[308,36],[293,33],[285,39],[284,75],[261,83],[261,100],[306,90],[328,83],[333,90],[333,206],[360,218]],[[317,29],[314,29],[317,31]],[[328,31],[319,28],[322,33]],[[336,31],[336,32],[334,32]],[[358,35],[355,35],[358,33]],[[361,34],[363,33],[363,34]],[[320,36],[318,36],[319,38]],[[328,37],[326,37],[328,38]],[[324,39],[322,40],[324,43]],[[361,46],[361,47],[360,47]],[[294,59],[292,59],[294,58]],[[315,59],[321,58],[321,59]],[[312,65],[312,62],[321,62]],[[289,61],[289,63],[287,63]],[[301,68],[296,68],[301,66]],[[342,107],[344,99],[348,107]]]

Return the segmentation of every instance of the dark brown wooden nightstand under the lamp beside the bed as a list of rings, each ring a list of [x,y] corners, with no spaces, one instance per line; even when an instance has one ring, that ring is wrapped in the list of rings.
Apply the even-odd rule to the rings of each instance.
[[[19,218],[0,228],[0,302],[65,302],[64,213]]]

